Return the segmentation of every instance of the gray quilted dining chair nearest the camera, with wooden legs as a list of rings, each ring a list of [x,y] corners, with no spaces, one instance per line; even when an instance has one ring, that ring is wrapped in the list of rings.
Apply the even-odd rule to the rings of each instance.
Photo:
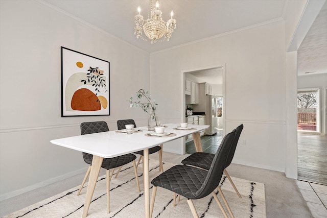
[[[194,217],[199,216],[192,200],[204,198],[212,193],[220,210],[225,217],[228,217],[215,193],[215,189],[217,186],[219,187],[220,179],[224,172],[227,155],[235,135],[235,131],[232,131],[223,138],[221,146],[217,150],[208,171],[194,166],[175,165],[154,178],[151,181],[153,184],[153,190],[150,206],[150,217],[152,216],[158,186],[171,190],[174,193],[187,198]]]

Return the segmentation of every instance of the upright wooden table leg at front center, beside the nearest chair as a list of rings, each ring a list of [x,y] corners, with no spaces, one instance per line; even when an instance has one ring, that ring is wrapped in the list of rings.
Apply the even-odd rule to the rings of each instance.
[[[144,205],[145,217],[150,217],[150,190],[149,190],[149,149],[143,151],[143,179],[144,179]]]

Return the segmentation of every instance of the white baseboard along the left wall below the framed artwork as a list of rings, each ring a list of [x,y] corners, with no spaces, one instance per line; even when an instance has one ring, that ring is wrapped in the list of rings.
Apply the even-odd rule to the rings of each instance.
[[[18,189],[18,190],[14,190],[14,191],[5,193],[3,195],[0,195],[0,201],[4,201],[4,200],[10,199],[10,198],[19,196],[21,194],[24,194],[24,193],[26,193],[28,191],[32,191],[32,190],[37,189],[37,188],[41,188],[41,187],[44,187],[44,186],[47,186],[47,185],[51,185],[53,183],[59,182],[61,180],[67,179],[67,178],[72,177],[72,176],[76,176],[76,175],[81,174],[81,173],[85,173],[87,171],[87,168],[88,168],[88,166],[83,167],[81,169],[78,169],[77,171],[69,172],[69,173],[63,174],[61,176],[54,177],[54,178],[51,178],[49,180],[45,180],[43,182],[39,182],[39,183],[30,185],[30,186],[27,186],[25,188],[21,188],[21,189]]]

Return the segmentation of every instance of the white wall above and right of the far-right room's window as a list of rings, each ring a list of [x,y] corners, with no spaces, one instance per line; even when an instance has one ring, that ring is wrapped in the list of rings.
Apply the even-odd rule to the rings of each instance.
[[[327,73],[326,74],[316,74],[316,75],[306,75],[297,78],[297,88],[319,88],[320,89],[320,132],[322,134],[327,134],[325,130],[326,126],[326,91],[327,88]]]

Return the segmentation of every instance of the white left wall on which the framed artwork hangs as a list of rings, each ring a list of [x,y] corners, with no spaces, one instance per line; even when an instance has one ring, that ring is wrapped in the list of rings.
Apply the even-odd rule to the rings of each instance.
[[[81,152],[51,139],[82,122],[134,118],[125,101],[149,89],[149,54],[34,1],[0,1],[0,200],[86,171]],[[60,46],[110,62],[110,116],[61,117]]]

